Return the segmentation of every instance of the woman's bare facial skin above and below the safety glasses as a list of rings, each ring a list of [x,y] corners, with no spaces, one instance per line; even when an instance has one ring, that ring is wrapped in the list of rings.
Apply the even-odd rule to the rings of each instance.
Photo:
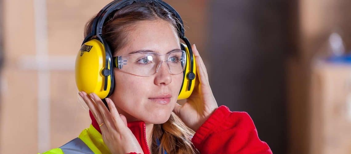
[[[164,20],[140,21],[128,32],[129,38],[124,48],[113,56],[127,55],[133,51],[150,50],[166,54],[173,49],[180,50],[179,39],[172,25]],[[115,88],[110,98],[120,114],[127,121],[141,120],[145,123],[166,122],[177,102],[183,73],[172,75],[167,64],[163,62],[158,72],[151,76],[137,76],[114,68]],[[170,95],[166,104],[156,98]]]

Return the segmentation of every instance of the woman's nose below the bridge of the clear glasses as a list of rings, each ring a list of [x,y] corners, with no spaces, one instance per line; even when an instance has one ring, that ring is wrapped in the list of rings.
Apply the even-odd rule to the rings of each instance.
[[[161,61],[156,71],[155,85],[168,85],[172,82],[172,75],[166,62]]]

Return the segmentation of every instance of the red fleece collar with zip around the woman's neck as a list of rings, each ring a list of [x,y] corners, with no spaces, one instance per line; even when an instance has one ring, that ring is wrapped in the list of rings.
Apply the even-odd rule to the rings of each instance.
[[[89,111],[91,118],[92,126],[101,134],[101,130],[98,122],[95,120],[91,111]],[[146,141],[146,127],[144,121],[133,121],[127,123],[128,128],[132,131],[135,138],[137,138],[141,148],[143,149],[144,154],[150,154],[150,149]]]

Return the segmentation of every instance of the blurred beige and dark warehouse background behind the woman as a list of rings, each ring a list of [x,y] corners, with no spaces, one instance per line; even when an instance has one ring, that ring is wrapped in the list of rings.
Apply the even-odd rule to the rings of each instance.
[[[248,112],[274,154],[351,153],[351,1],[165,0],[218,105]],[[75,56],[110,0],[0,0],[0,153],[64,145],[90,125]]]

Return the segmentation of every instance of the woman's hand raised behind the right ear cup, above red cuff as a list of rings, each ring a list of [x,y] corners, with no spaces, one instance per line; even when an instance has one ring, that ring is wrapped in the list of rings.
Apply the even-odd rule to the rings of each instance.
[[[181,106],[178,103],[174,106],[173,112],[185,123],[186,126],[195,132],[218,108],[214,99],[207,70],[195,45],[192,45],[193,54],[196,60],[197,78],[194,91]]]

